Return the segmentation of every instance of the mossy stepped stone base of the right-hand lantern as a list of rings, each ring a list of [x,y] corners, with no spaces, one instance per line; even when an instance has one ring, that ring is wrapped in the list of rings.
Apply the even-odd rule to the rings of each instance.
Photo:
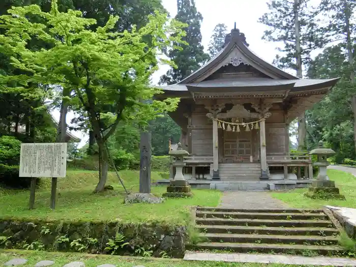
[[[339,188],[335,187],[335,182],[329,180],[313,181],[306,196],[313,199],[345,200],[345,196],[340,195]]]

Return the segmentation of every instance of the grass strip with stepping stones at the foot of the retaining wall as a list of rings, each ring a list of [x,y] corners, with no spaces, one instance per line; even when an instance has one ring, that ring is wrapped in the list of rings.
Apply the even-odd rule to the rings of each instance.
[[[26,264],[23,267],[33,267],[38,261],[53,260],[52,267],[62,267],[71,261],[83,261],[86,267],[96,267],[100,264],[113,264],[120,267],[132,267],[143,265],[145,267],[282,267],[296,266],[283,264],[260,264],[260,263],[232,263],[232,262],[214,262],[214,261],[184,261],[182,259],[162,259],[162,258],[138,258],[138,257],[120,257],[111,255],[94,255],[79,253],[60,253],[29,250],[1,250],[0,266],[12,258],[26,258]]]

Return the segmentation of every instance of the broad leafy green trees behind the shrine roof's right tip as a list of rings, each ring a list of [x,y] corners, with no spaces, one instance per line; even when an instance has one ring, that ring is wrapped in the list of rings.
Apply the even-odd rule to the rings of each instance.
[[[348,54],[344,43],[325,48],[308,64],[309,78],[340,77],[333,90],[307,112],[307,145],[313,149],[318,140],[327,141],[336,152],[337,163],[355,157],[353,142],[352,96],[354,87],[349,81]]]

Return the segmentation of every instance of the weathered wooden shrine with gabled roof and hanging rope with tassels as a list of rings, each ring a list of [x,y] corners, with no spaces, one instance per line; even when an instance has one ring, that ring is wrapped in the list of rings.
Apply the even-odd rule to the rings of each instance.
[[[211,61],[179,83],[163,86],[163,97],[181,98],[170,116],[182,128],[183,149],[191,154],[187,179],[312,177],[310,156],[289,153],[288,126],[337,81],[286,73],[252,52],[245,35],[232,29]]]

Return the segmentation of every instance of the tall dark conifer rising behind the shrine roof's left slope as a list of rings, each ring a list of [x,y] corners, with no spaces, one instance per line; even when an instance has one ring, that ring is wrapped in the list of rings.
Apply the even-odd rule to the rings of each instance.
[[[176,20],[188,24],[184,28],[187,35],[183,38],[188,44],[181,44],[182,49],[173,49],[168,53],[169,58],[177,68],[171,68],[160,79],[160,84],[174,84],[188,77],[199,69],[207,60],[201,45],[200,24],[203,19],[195,7],[195,0],[177,0]]]

